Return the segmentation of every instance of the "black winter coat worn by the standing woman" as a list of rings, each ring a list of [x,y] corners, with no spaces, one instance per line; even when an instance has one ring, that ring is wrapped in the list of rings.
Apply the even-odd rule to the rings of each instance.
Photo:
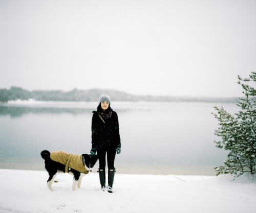
[[[99,151],[115,150],[117,145],[121,144],[117,113],[112,111],[112,116],[108,119],[105,119],[103,116],[101,117],[105,121],[105,124],[100,119],[98,112],[93,111],[92,148],[96,148]]]

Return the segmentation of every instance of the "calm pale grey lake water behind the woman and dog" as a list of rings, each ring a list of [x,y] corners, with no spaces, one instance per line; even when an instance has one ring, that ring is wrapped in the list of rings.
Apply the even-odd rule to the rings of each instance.
[[[45,170],[41,150],[90,153],[92,111],[97,103],[9,103],[0,105],[0,168]],[[120,103],[122,153],[119,173],[215,175],[227,153],[215,147],[213,106],[236,104]],[[94,172],[98,168],[98,163]]]

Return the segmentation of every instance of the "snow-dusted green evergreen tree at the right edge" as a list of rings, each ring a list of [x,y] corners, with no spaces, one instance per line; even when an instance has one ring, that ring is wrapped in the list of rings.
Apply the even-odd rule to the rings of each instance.
[[[246,79],[238,76],[238,79],[245,95],[237,103],[240,110],[231,115],[223,107],[215,107],[217,113],[214,114],[220,122],[215,134],[222,138],[215,141],[216,147],[229,151],[225,165],[215,170],[217,175],[232,174],[236,178],[256,172],[256,89],[250,86],[256,83],[256,73],[251,72]]]

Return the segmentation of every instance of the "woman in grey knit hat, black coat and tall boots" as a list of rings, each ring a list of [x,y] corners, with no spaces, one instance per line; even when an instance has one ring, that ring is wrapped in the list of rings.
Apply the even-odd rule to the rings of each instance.
[[[113,192],[115,176],[114,161],[116,153],[121,153],[118,116],[110,107],[110,97],[102,94],[99,97],[97,111],[93,111],[92,117],[92,150],[99,158],[99,180],[101,190],[105,191],[105,166],[106,156],[108,160],[108,192]]]

